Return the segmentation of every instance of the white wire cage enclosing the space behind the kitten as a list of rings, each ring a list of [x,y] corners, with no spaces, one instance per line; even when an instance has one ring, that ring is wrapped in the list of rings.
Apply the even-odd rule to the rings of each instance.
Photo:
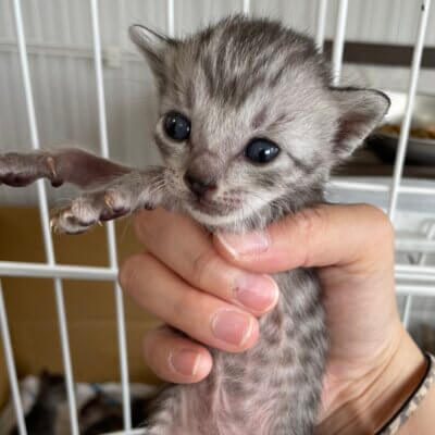
[[[105,83],[103,76],[103,49],[101,42],[100,20],[101,14],[107,7],[107,3],[98,0],[85,0],[89,9],[90,22],[89,29],[94,51],[91,53],[95,70],[95,89],[96,89],[96,108],[98,120],[98,136],[99,136],[99,152],[102,157],[109,157],[109,125],[107,120],[107,98],[104,96]],[[29,50],[33,49],[26,44],[26,28],[24,26],[24,16],[21,0],[11,0],[8,3],[11,7],[11,18],[13,17],[13,25],[16,32],[16,50],[20,59],[20,70],[22,73],[22,88],[24,92],[24,101],[26,108],[26,122],[29,130],[30,145],[33,149],[39,149],[41,141],[39,138],[39,130],[41,128],[37,123],[37,107],[35,102],[35,88],[32,80],[32,69],[29,66]],[[162,3],[162,2],[160,2]],[[177,27],[177,13],[182,13],[181,3],[174,0],[167,0],[164,8],[164,20],[166,33],[170,36],[177,35],[182,32]],[[239,2],[231,2],[231,12],[244,12],[246,14],[252,13],[253,1],[241,0]],[[259,2],[256,2],[259,3]],[[332,4],[333,3],[333,4]],[[376,3],[376,2],[374,2]],[[120,14],[124,14],[123,0],[117,1]],[[154,4],[156,5],[156,4]],[[113,4],[112,4],[113,7]],[[152,9],[152,1],[147,2],[147,8]],[[229,7],[229,3],[228,3]],[[353,2],[348,0],[316,0],[311,1],[310,7],[314,8],[312,16],[314,23],[312,25],[313,37],[319,50],[323,49],[325,39],[325,28],[327,22],[327,14],[336,14],[335,21],[335,36],[332,52],[332,70],[334,76],[334,85],[339,85],[343,67],[343,55],[346,42],[346,32],[348,24],[349,11],[356,8]],[[373,7],[373,4],[372,4]],[[415,95],[418,91],[418,80],[421,71],[422,53],[425,45],[425,35],[427,29],[428,17],[431,13],[431,0],[421,0],[412,2],[412,9],[415,11],[415,39],[413,47],[412,62],[410,64],[409,85],[407,94],[407,104],[405,117],[401,125],[400,139],[396,160],[394,164],[394,175],[389,179],[363,179],[355,181],[351,178],[334,178],[332,183],[332,195],[339,192],[350,194],[351,198],[359,197],[365,198],[369,202],[375,202],[387,210],[389,217],[394,223],[400,220],[397,210],[399,200],[410,197],[417,201],[430,202],[434,198],[435,185],[432,183],[417,183],[412,179],[402,179],[402,172],[405,165],[405,157],[407,150],[407,142],[410,133],[411,115],[413,112]],[[38,13],[38,20],[42,20],[41,14]],[[124,36],[123,36],[124,38]],[[51,47],[55,50],[57,47]],[[113,53],[112,53],[113,54]],[[115,52],[116,54],[116,52]],[[84,54],[85,55],[85,54]],[[88,55],[88,54],[86,54]],[[105,59],[107,61],[107,59]],[[415,199],[417,198],[417,199]],[[126,349],[126,331],[125,331],[125,315],[124,303],[121,288],[117,284],[117,250],[116,237],[114,226],[112,223],[107,225],[107,243],[109,252],[108,266],[85,266],[72,264],[59,264],[57,262],[53,249],[53,241],[50,235],[49,225],[49,198],[44,182],[37,183],[37,202],[40,212],[41,231],[45,245],[46,262],[45,263],[29,263],[29,262],[13,262],[0,261],[0,278],[7,276],[14,277],[45,277],[52,278],[54,284],[54,295],[57,312],[59,318],[60,337],[61,337],[61,351],[64,364],[64,374],[66,381],[66,390],[69,399],[69,412],[71,433],[73,435],[79,434],[79,425],[77,418],[77,406],[74,389],[74,375],[72,366],[72,358],[70,352],[67,321],[65,314],[65,302],[63,298],[63,279],[88,279],[88,281],[104,281],[113,283],[116,307],[116,324],[117,324],[117,340],[119,340],[119,359],[121,371],[121,383],[123,391],[123,418],[124,418],[124,432],[123,434],[132,434],[135,431],[132,428],[130,415],[130,395],[129,395],[129,375],[127,364],[127,349]],[[412,202],[412,201],[411,201]],[[412,208],[412,204],[410,206]],[[435,207],[434,207],[435,210]],[[434,212],[427,212],[431,215]],[[435,214],[434,214],[435,216]],[[396,279],[397,291],[406,297],[402,310],[402,320],[406,325],[409,324],[412,298],[414,296],[435,297],[435,266],[425,265],[426,256],[435,252],[435,243],[432,241],[435,225],[430,225],[423,236],[411,234],[407,237],[398,237],[397,249],[402,252],[418,252],[420,253],[418,261],[413,264],[408,262],[400,262],[396,264]],[[7,307],[0,281],[0,331],[2,344],[4,349],[4,357],[10,381],[11,396],[13,399],[16,421],[20,435],[26,435],[25,418],[23,412],[22,400],[20,397],[18,380],[15,370],[13,346],[11,343],[11,335],[9,331]]]

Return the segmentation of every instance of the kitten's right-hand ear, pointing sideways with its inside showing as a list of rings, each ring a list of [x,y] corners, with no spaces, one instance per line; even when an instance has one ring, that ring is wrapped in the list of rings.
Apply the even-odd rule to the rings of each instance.
[[[389,98],[378,90],[331,88],[340,110],[334,153],[348,158],[387,113]]]

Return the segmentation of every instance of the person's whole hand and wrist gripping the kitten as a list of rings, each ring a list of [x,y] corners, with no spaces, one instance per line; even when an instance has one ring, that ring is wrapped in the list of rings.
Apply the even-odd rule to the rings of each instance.
[[[145,338],[145,359],[160,377],[206,377],[213,361],[203,345],[231,352],[253,346],[258,318],[277,300],[269,274],[316,268],[331,339],[316,434],[373,434],[422,378],[424,357],[397,311],[394,231],[381,210],[325,204],[235,236],[210,235],[188,216],[159,209],[137,213],[135,228],[145,252],[123,264],[121,284],[187,334],[163,326]],[[233,330],[219,322],[228,312]],[[400,435],[432,433],[431,409],[433,390]]]

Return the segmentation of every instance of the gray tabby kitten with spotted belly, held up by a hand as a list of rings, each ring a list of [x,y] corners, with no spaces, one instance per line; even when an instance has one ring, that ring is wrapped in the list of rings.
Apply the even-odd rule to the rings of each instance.
[[[233,16],[185,39],[146,27],[133,40],[154,73],[164,164],[136,170],[77,149],[0,157],[0,181],[46,177],[87,190],[58,210],[54,229],[82,233],[139,208],[184,210],[210,231],[262,228],[323,201],[332,167],[388,109],[376,90],[333,88],[312,41],[268,20]],[[171,386],[148,435],[309,435],[327,338],[312,270],[274,276],[281,299],[241,355],[213,351],[211,374]]]

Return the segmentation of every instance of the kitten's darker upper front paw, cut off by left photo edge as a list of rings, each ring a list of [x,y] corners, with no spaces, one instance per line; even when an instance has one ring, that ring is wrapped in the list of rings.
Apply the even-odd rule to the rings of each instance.
[[[0,154],[0,184],[24,187],[47,177],[53,186],[62,184],[54,170],[54,159],[40,151]]]

